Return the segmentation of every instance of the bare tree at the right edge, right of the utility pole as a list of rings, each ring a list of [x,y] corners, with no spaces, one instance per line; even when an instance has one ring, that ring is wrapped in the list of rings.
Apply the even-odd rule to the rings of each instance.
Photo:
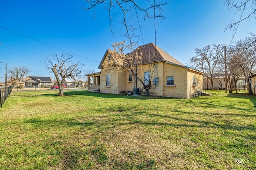
[[[252,95],[251,78],[256,70],[256,37],[246,37],[236,41],[230,47],[230,55],[234,67],[239,68],[246,79],[248,94]]]

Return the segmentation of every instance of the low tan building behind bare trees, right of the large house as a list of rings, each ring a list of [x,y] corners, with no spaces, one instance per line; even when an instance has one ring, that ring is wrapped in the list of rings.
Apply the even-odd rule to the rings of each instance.
[[[203,89],[204,90],[212,90],[212,84],[210,82],[210,79],[204,76],[204,81],[203,81]],[[225,90],[225,77],[224,75],[220,76],[214,76],[213,77],[213,86],[214,90]],[[233,85],[233,88],[235,85]],[[244,76],[240,76],[236,82],[236,89],[237,90],[244,90],[244,88],[247,88],[246,86],[246,79]],[[228,84],[227,84],[227,90],[228,89]]]

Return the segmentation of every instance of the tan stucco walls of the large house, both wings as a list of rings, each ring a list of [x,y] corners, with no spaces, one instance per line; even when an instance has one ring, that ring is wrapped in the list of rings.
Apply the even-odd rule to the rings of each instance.
[[[108,59],[108,55],[106,59]],[[110,58],[112,59],[112,57]],[[104,61],[107,62],[107,61]],[[155,67],[153,66],[155,64]],[[159,78],[158,85],[154,85],[151,82],[152,87],[150,89],[150,95],[153,96],[165,96],[173,98],[190,98],[194,97],[196,92],[202,90],[203,76],[201,73],[194,70],[190,70],[183,66],[177,66],[170,63],[152,63],[138,66],[138,77],[144,82],[144,72],[150,71],[151,81],[154,77]],[[106,86],[106,74],[110,74],[110,86]],[[120,69],[104,70],[101,69],[100,74],[100,92],[109,94],[120,94],[122,91],[133,91],[134,78],[132,82],[129,82],[129,72]],[[167,76],[174,76],[174,86],[166,85]],[[196,77],[197,86],[193,87],[193,76]],[[138,80],[137,87],[142,94],[145,94],[145,90],[142,83]],[[89,89],[88,89],[89,90]]]

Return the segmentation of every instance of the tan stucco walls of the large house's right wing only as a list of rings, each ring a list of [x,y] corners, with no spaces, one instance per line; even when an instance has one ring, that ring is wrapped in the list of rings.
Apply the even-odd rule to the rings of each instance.
[[[201,73],[164,62],[153,64],[156,64],[157,66],[155,69],[153,67],[150,69],[149,65],[142,65],[141,68],[138,68],[138,72],[141,72],[138,76],[143,82],[144,72],[148,70],[150,70],[151,80],[153,80],[154,77],[159,78],[158,85],[154,85],[152,82],[150,95],[173,98],[190,98],[195,96],[199,89],[202,90],[203,76]],[[167,85],[168,76],[174,76],[174,86]],[[196,81],[198,82],[198,85],[195,87],[193,87],[193,76],[196,77]],[[140,88],[140,91],[142,90],[142,92],[145,93],[145,90],[139,81],[137,85],[138,88]]]

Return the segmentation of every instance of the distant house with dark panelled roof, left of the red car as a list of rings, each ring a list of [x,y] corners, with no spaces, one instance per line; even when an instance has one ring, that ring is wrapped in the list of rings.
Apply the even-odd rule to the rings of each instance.
[[[22,82],[24,88],[26,87],[50,87],[53,85],[52,77],[40,77],[40,76],[26,76],[26,78],[22,78]]]

